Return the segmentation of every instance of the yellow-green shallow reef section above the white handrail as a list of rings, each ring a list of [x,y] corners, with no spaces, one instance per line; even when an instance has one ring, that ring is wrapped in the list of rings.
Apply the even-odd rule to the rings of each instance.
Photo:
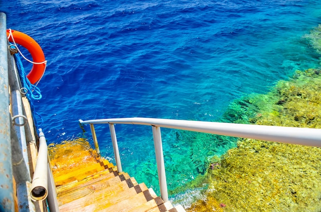
[[[321,70],[297,71],[290,81],[280,81],[272,95],[278,96],[272,111],[256,124],[321,128]]]

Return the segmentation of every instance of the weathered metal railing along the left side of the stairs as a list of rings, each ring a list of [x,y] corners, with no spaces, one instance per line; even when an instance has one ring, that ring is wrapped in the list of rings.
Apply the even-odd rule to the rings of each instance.
[[[8,48],[6,28],[6,14],[0,12],[0,211],[15,210],[14,189],[19,211],[41,211],[36,200],[43,201],[47,195],[50,211],[58,211],[47,161],[47,143],[41,129],[37,163],[31,179],[28,159],[31,153],[27,145],[35,145],[36,132],[31,130],[32,118],[26,115],[25,107],[30,108],[30,105],[22,99],[21,80]]]

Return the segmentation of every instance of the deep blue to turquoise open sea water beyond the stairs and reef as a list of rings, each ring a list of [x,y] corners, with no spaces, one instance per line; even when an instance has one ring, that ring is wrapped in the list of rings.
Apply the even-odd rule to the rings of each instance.
[[[305,35],[321,24],[320,0],[74,2],[0,1],[7,28],[32,36],[48,60],[35,102],[48,142],[91,140],[78,119],[215,121],[233,99],[268,92],[319,63]],[[151,129],[117,125],[116,132],[125,171],[155,187]],[[113,161],[108,126],[97,136]],[[234,145],[178,131],[162,136],[171,188]]]

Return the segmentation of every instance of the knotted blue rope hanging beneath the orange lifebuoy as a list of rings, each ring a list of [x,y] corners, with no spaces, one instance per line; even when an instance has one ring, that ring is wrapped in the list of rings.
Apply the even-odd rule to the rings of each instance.
[[[42,122],[39,125],[37,124],[36,118],[34,118],[34,124],[36,126],[37,131],[38,131],[39,126],[41,126],[44,123],[44,120],[43,120],[42,116],[35,111],[34,105],[33,105],[33,100],[39,100],[43,96],[41,95],[40,89],[38,87],[36,87],[34,84],[31,84],[31,82],[27,78],[24,66],[23,66],[22,61],[20,59],[20,56],[18,54],[14,54],[14,59],[15,59],[15,63],[16,63],[17,69],[18,69],[18,74],[21,79],[22,87],[25,88],[25,90],[27,92],[26,97],[30,103],[32,116],[35,117],[35,115],[37,115],[39,118],[41,118]]]

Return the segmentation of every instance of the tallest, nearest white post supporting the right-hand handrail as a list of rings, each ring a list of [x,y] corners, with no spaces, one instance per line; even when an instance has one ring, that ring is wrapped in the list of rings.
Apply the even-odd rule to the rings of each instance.
[[[159,126],[152,126],[154,146],[155,146],[155,155],[157,162],[157,173],[158,181],[160,187],[160,196],[164,202],[168,201],[168,191],[167,191],[167,182],[166,182],[166,173],[165,173],[165,163],[163,155],[163,146],[162,146],[162,135],[160,134]]]

